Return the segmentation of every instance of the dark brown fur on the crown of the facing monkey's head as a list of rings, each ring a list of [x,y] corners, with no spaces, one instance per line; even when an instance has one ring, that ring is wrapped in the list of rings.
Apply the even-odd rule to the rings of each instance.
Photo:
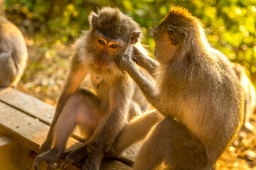
[[[89,16],[90,27],[98,30],[108,38],[130,39],[133,33],[141,32],[139,24],[129,16],[124,15],[118,8],[104,7],[98,13]]]

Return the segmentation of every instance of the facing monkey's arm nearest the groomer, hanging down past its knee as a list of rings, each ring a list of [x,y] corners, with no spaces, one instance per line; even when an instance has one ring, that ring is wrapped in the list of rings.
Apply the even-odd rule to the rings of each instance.
[[[110,116],[100,130],[96,140],[88,147],[93,148],[94,152],[89,154],[87,162],[83,169],[94,167],[99,168],[104,152],[108,152],[114,143],[114,138],[118,132],[127,124],[127,116],[129,105],[132,101],[134,84],[132,79],[129,79],[128,74],[124,72],[125,78],[115,79],[110,89]]]

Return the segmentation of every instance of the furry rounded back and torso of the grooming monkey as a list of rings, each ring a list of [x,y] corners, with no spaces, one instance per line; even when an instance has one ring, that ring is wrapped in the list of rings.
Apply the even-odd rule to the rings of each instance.
[[[193,57],[173,64],[164,75],[169,84],[160,89],[171,112],[178,113],[176,119],[203,142],[208,159],[215,162],[242,124],[243,91],[223,54],[214,50],[212,56]]]

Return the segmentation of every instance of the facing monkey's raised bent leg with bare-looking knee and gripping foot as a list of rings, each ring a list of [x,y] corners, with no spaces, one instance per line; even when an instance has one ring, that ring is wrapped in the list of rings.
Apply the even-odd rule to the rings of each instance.
[[[48,167],[51,169],[55,159],[65,150],[66,142],[75,125],[87,125],[84,128],[87,128],[87,131],[93,131],[100,121],[99,106],[100,101],[89,91],[81,89],[70,96],[53,130],[54,147],[36,157],[34,169],[39,169],[43,161],[48,162]]]

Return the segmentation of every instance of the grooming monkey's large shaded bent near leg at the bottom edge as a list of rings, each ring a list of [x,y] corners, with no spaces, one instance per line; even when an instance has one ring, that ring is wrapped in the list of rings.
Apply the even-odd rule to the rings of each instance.
[[[152,128],[134,163],[134,170],[210,169],[203,144],[172,118]]]

